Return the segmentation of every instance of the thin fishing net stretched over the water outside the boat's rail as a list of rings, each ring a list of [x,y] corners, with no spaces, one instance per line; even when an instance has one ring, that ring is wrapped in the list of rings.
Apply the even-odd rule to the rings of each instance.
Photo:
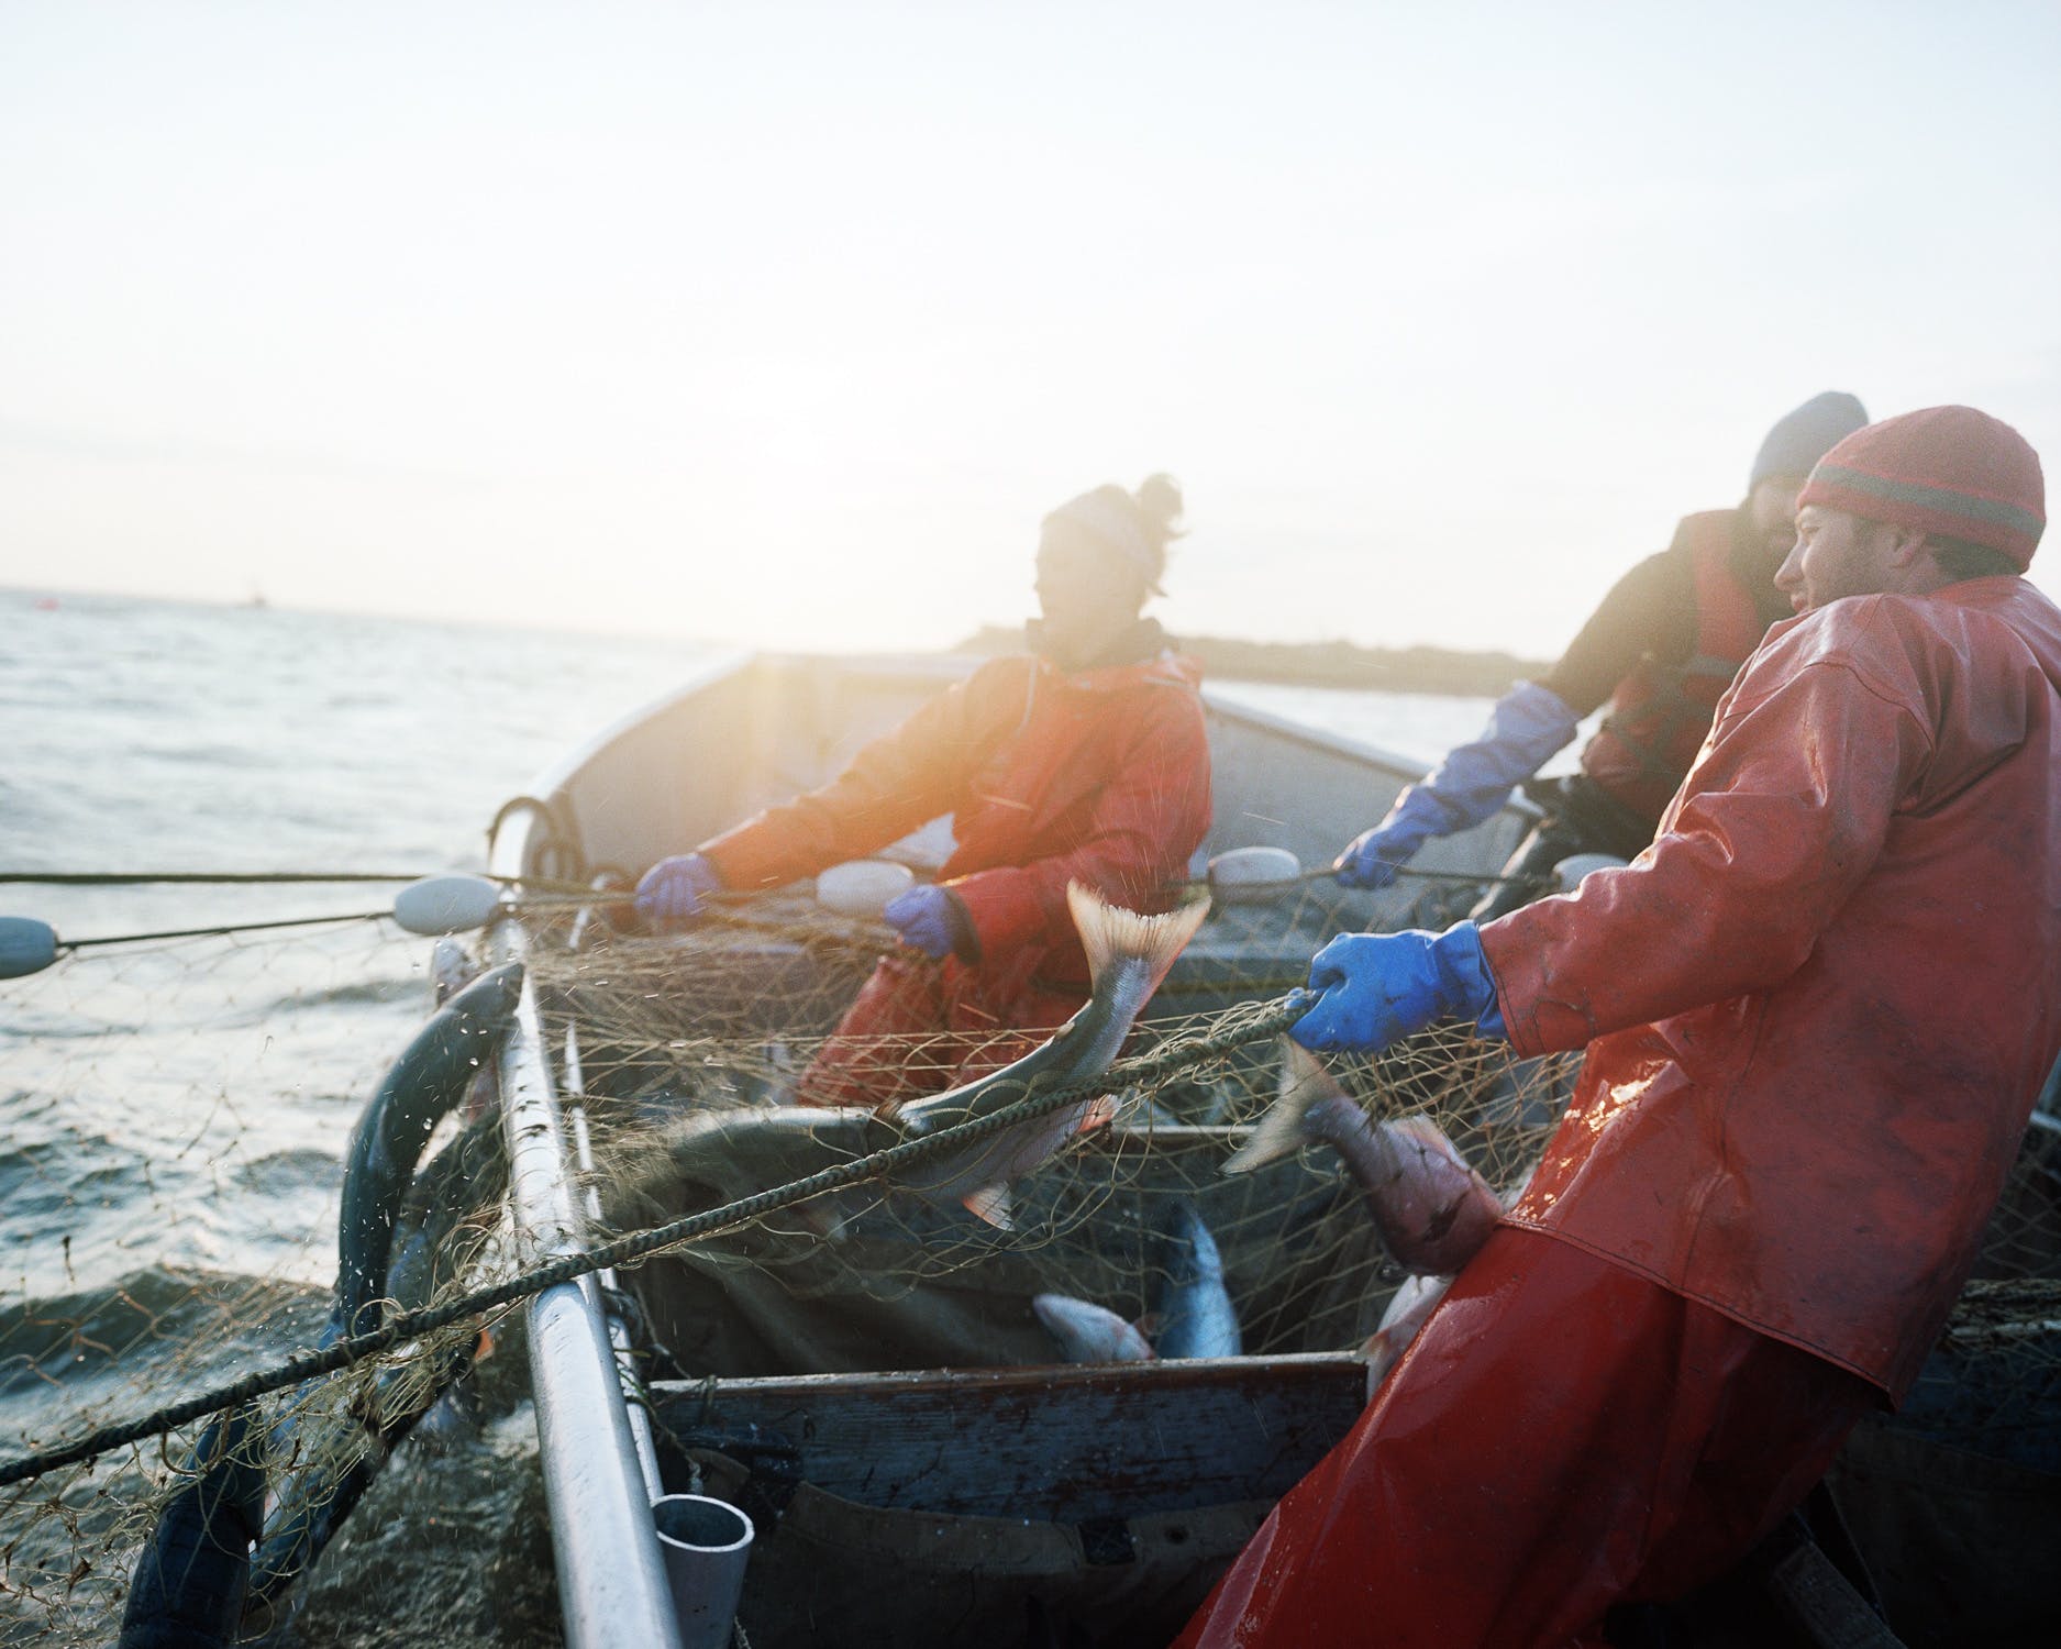
[[[150,926],[148,905],[136,899],[132,921],[140,909]],[[276,913],[276,899],[268,907],[254,909]],[[344,1140],[423,1020],[429,961],[392,923],[350,919],[89,948],[0,985],[10,1459],[319,1344]],[[478,1132],[470,1144],[445,1175],[464,1160],[484,1196],[410,1214],[414,1233],[435,1226],[439,1239],[435,1257],[423,1251],[396,1276],[418,1297],[493,1266],[499,1158],[478,1152]],[[435,1187],[425,1173],[418,1189]],[[262,1455],[280,1494],[299,1484],[332,1499],[375,1447],[381,1416],[418,1402],[445,1342],[476,1336],[453,1330],[272,1395],[237,1451]],[[206,1433],[194,1422],[0,1490],[0,1641],[111,1641],[159,1513],[225,1449]]]

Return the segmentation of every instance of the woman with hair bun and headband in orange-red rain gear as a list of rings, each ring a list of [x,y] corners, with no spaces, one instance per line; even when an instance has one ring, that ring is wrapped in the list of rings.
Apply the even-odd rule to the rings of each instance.
[[[1179,895],[1210,827],[1200,670],[1140,616],[1162,594],[1179,515],[1167,476],[1059,505],[1037,552],[1030,653],[983,664],[822,789],[637,884],[647,921],[678,923],[717,888],[814,876],[952,814],[952,857],[888,901],[901,946],[804,1074],[802,1101],[886,1105],[1006,1064],[1088,1000],[1068,882],[1134,911]],[[876,1041],[936,1033],[954,1033],[942,1059]]]

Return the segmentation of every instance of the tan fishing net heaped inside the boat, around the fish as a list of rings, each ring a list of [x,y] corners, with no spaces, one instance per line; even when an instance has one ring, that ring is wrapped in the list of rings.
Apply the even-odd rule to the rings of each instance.
[[[841,989],[804,996],[787,1027],[765,1022],[765,994],[738,989],[734,934],[538,956],[546,1008],[579,1024],[592,1111],[606,1121],[602,1150],[616,1165],[614,1222],[719,1206],[890,1138],[849,1113],[824,1123],[785,1109],[806,1095],[829,1027],[880,954],[878,944],[826,948]],[[781,940],[746,950],[761,952],[769,975],[785,967]],[[1261,967],[1270,965],[1265,956]],[[1272,998],[1276,983],[1261,979],[1249,1000]],[[1057,1348],[1028,1299],[1059,1292],[1148,1317],[1169,1282],[1160,1233],[1177,1204],[1202,1214],[1222,1251],[1247,1350],[1364,1340],[1401,1272],[1383,1257],[1342,1160],[1309,1150],[1251,1175],[1222,1171],[1278,1097],[1278,1043],[1185,1059],[1185,1047],[1249,1010],[1162,1012],[1185,994],[1237,996],[1220,956],[1187,977],[1177,969],[1169,987],[1123,1049],[1127,1064],[1162,1057],[1169,1068],[1125,1084],[1113,1125],[1016,1187],[1012,1229],[969,1218],[952,1200],[868,1185],[837,1198],[835,1218],[845,1222],[837,1241],[804,1206],[647,1266],[645,1292],[676,1367],[761,1375],[804,1371],[800,1358],[839,1369],[923,1367],[925,1354],[954,1365],[1051,1360]],[[847,1037],[837,1047],[845,1059],[936,1088],[1020,1053],[1024,1037]],[[1381,1059],[1338,1059],[1333,1074],[1371,1115],[1432,1117],[1505,1187],[1535,1158],[1573,1062],[1519,1062],[1437,1029]]]

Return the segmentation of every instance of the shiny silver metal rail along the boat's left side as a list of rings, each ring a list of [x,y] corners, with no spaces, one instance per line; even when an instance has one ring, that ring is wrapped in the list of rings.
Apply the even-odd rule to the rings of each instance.
[[[521,958],[526,946],[513,917],[497,923],[495,948],[507,961]],[[501,1047],[501,1128],[523,1264],[581,1247],[585,1231],[573,1202],[536,987],[528,981]],[[602,1315],[577,1282],[563,1282],[530,1301],[528,1321],[565,1641],[571,1649],[627,1643],[678,1649],[651,1496]]]

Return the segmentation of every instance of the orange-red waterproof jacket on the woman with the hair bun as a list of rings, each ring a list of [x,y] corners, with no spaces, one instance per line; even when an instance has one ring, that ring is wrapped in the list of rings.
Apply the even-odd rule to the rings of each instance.
[[[973,919],[975,967],[1086,989],[1066,884],[1164,911],[1210,829],[1200,674],[1167,651],[1074,674],[991,660],[822,789],[701,851],[725,886],[779,886],[948,812],[956,849],[938,880]]]

